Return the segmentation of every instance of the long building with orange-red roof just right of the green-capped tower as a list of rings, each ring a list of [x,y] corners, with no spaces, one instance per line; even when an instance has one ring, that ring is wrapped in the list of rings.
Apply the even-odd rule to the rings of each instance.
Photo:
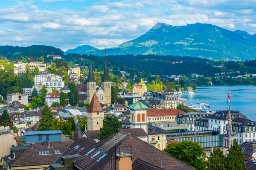
[[[183,113],[177,109],[150,109],[148,110],[148,122],[176,122],[177,114]]]

